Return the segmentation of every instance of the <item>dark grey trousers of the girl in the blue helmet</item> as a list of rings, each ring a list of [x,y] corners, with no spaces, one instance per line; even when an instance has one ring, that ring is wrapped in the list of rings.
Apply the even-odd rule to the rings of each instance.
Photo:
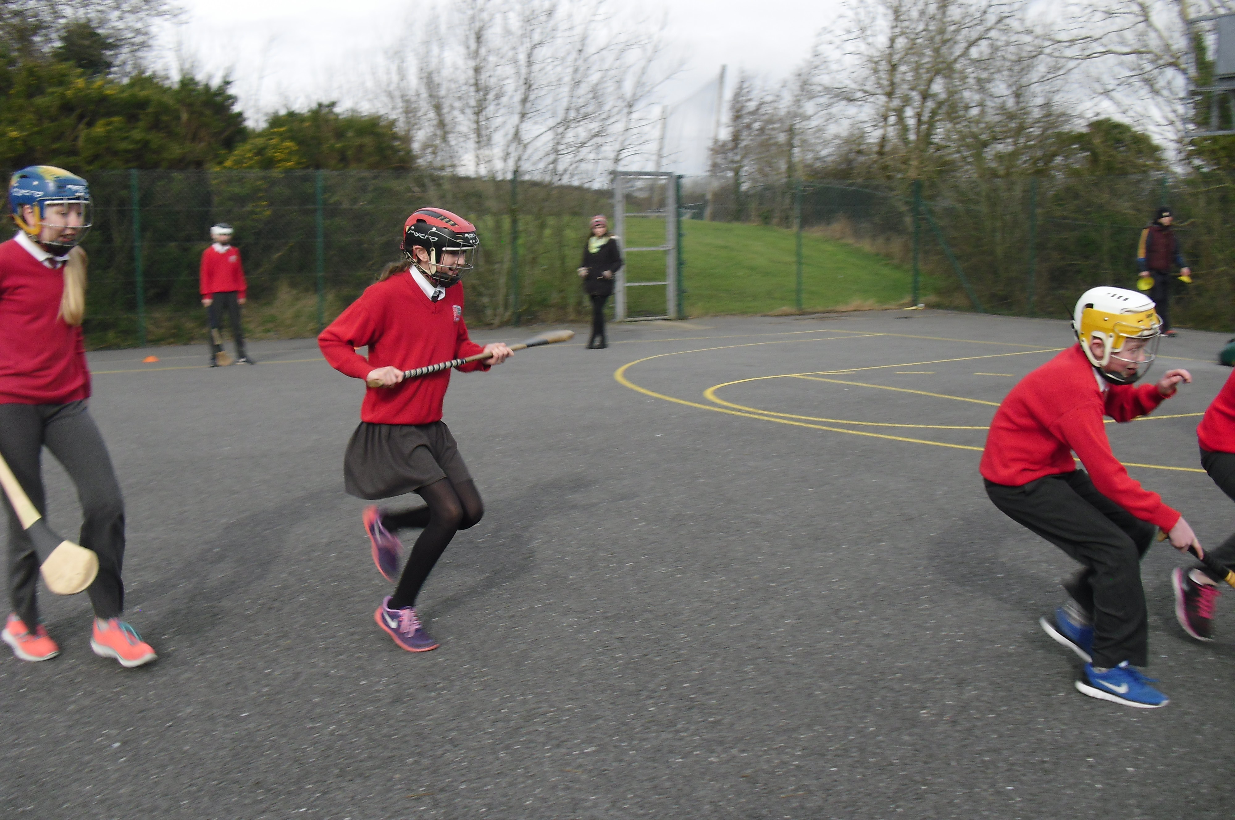
[[[40,471],[43,447],[64,466],[82,503],[78,543],[99,556],[99,574],[86,594],[95,616],[106,619],[116,617],[125,609],[125,584],[120,579],[125,561],[125,501],[107,447],[86,404],[0,404],[0,454],[31,504],[43,515],[47,515]],[[9,600],[17,616],[33,629],[38,622],[35,599],[38,556],[7,498],[5,509],[9,511]]]

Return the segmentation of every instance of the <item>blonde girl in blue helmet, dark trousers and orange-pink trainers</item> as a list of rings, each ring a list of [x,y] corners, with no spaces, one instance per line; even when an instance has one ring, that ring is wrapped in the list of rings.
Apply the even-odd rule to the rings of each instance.
[[[85,361],[85,251],[91,224],[90,186],[63,168],[32,165],[9,183],[17,235],[0,243],[0,454],[26,495],[46,514],[40,474],[46,446],[77,485],[79,542],[99,556],[86,589],[94,608],[90,647],[122,666],[157,656],[121,620],[125,584],[125,503],[111,457],[90,417]],[[0,640],[22,661],[47,661],[59,647],[38,621],[38,556],[10,504],[9,615]]]

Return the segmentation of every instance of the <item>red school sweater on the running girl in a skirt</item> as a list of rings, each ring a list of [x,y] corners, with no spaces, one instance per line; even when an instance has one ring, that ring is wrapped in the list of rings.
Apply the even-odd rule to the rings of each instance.
[[[437,303],[404,270],[372,284],[317,337],[331,366],[363,379],[379,367],[410,370],[426,364],[473,356],[484,348],[468,338],[463,321],[463,285],[446,289]],[[368,346],[369,357],[356,352]],[[488,370],[472,362],[461,370]],[[379,425],[427,425],[442,419],[450,369],[400,382],[393,388],[368,388],[361,419]]]

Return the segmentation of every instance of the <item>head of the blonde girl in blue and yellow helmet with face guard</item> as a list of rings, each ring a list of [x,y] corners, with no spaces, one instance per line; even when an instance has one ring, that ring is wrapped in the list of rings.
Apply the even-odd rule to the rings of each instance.
[[[27,206],[28,216],[23,212]],[[64,253],[80,245],[94,225],[90,186],[53,165],[31,165],[15,173],[9,180],[9,209],[26,236]],[[52,236],[42,238],[47,228]]]

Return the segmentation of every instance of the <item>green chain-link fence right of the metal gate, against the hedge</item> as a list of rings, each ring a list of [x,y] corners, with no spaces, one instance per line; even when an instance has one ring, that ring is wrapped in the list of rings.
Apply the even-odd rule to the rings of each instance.
[[[703,199],[703,185],[690,186]],[[692,199],[692,194],[687,194]],[[1173,317],[1235,327],[1235,183],[1220,177],[1042,177],[915,184],[811,180],[711,191],[710,217],[856,242],[921,272],[915,293],[947,308],[1067,316],[1091,287],[1136,282],[1141,228],[1158,205],[1194,269]],[[701,216],[701,212],[699,214]],[[810,270],[802,273],[810,277]]]

